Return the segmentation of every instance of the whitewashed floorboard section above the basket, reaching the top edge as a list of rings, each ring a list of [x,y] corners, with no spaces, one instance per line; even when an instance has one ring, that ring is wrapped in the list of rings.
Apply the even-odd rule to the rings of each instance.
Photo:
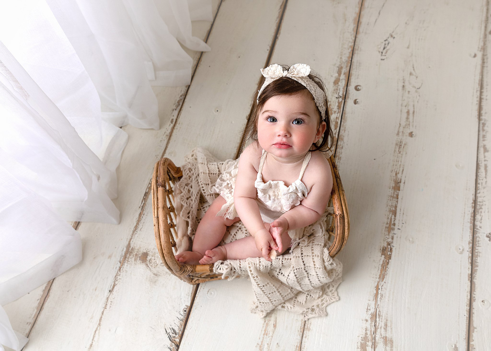
[[[281,0],[224,1],[165,153],[181,165],[194,147],[235,157],[271,50]],[[260,9],[260,10],[259,10]]]

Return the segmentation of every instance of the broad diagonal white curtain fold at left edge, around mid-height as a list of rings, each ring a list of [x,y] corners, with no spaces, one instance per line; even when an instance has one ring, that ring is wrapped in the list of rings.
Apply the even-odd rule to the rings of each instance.
[[[0,71],[1,164],[61,218],[118,223],[110,170],[1,42]],[[127,135],[114,128],[120,154]]]

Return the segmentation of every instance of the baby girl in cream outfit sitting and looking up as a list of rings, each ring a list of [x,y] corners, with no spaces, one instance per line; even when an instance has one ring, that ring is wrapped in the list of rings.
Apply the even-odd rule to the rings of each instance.
[[[218,178],[220,195],[201,219],[192,251],[175,255],[178,262],[272,261],[326,211],[332,176],[322,151],[330,149],[332,130],[324,85],[301,63],[261,73],[266,80],[246,130],[252,143]],[[250,236],[217,246],[239,220]]]

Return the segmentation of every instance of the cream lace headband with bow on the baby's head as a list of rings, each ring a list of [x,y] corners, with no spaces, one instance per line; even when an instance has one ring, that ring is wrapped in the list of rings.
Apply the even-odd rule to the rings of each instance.
[[[310,74],[310,66],[304,63],[296,63],[288,69],[288,71],[283,71],[283,67],[277,63],[269,65],[266,68],[261,69],[261,73],[264,77],[266,77],[266,81],[264,82],[261,89],[259,89],[259,93],[257,94],[257,102],[259,103],[259,95],[266,88],[268,84],[273,82],[274,80],[281,77],[288,77],[297,82],[299,82],[302,86],[308,89],[312,96],[314,97],[314,102],[317,105],[317,108],[321,112],[322,119],[326,119],[326,94],[324,91],[319,88],[317,84],[315,84],[308,75]]]

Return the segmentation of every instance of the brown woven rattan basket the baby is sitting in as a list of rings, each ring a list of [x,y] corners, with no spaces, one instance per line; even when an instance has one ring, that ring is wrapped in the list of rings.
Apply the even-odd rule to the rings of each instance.
[[[333,179],[329,206],[334,208],[334,213],[331,214],[333,220],[326,234],[329,235],[329,254],[334,257],[346,244],[350,232],[350,220],[334,157],[330,156],[328,161]],[[176,246],[174,238],[177,237],[177,232],[172,188],[181,176],[181,169],[166,157],[155,164],[152,177],[152,207],[155,241],[160,257],[172,274],[190,284],[221,279],[219,274],[213,272],[213,264],[185,264],[177,262],[174,258],[173,248]]]

